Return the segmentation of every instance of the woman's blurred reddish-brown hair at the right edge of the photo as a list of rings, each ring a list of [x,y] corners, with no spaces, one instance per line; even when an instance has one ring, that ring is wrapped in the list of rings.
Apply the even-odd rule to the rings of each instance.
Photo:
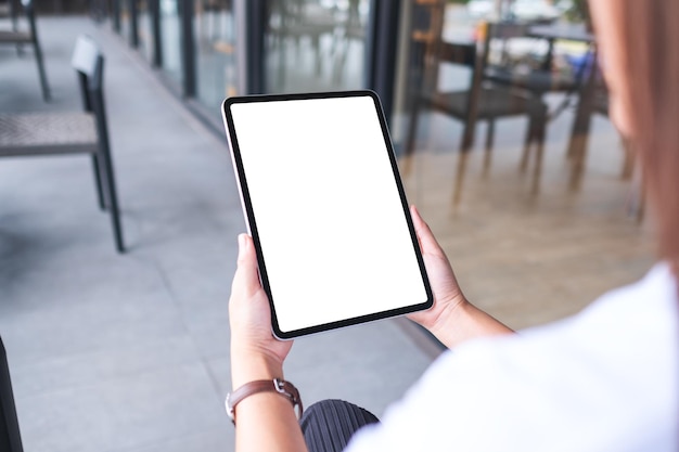
[[[624,46],[633,130],[659,256],[679,271],[679,2],[616,0],[610,20]],[[605,57],[605,55],[604,55]]]

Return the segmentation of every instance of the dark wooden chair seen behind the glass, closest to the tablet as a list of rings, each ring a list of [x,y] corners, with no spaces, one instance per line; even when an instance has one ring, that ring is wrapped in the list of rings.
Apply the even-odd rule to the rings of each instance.
[[[490,166],[490,155],[495,135],[495,121],[499,118],[526,116],[528,128],[521,159],[521,169],[525,170],[530,157],[530,146],[536,145],[536,163],[533,181],[533,192],[539,190],[539,176],[542,162],[545,129],[547,122],[547,105],[527,90],[515,89],[484,80],[484,70],[488,62],[489,34],[477,51],[475,42],[446,42],[439,35],[415,35],[413,38],[425,43],[424,75],[419,85],[422,90],[415,90],[412,102],[412,113],[406,137],[406,154],[412,154],[415,145],[415,133],[421,109],[424,107],[444,113],[463,122],[463,132],[460,143],[460,159],[458,163],[456,190],[453,202],[459,203],[462,181],[469,151],[471,151],[476,122],[488,121],[486,135],[486,154],[484,171]],[[443,64],[466,66],[471,72],[470,88],[457,91],[438,90],[439,67]]]

